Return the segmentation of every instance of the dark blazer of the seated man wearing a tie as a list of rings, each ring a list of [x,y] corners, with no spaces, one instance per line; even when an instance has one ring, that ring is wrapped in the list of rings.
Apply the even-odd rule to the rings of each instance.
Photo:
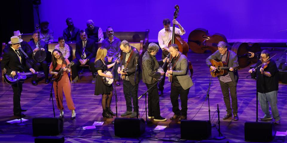
[[[76,56],[77,60],[82,59],[82,57],[81,57],[82,52],[83,52],[83,41],[80,39],[76,43],[75,56]],[[91,58],[96,57],[97,49],[95,47],[95,41],[94,40],[89,39],[89,38],[87,39],[85,53],[86,53],[86,58],[89,60]]]

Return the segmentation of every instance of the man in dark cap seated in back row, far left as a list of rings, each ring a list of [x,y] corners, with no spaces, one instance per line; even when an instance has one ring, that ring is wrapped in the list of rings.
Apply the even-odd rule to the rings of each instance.
[[[54,37],[53,34],[54,32],[50,29],[48,29],[49,22],[43,21],[41,22],[41,30],[40,30],[40,40],[46,42],[46,43],[53,43],[54,42]]]

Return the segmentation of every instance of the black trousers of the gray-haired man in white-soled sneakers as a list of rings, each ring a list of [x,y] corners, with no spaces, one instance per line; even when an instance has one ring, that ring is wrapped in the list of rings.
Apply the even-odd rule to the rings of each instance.
[[[155,84],[155,83],[154,83]],[[147,84],[146,87],[149,89],[154,84]],[[153,86],[152,89],[148,91],[148,109],[149,109],[149,116],[154,116],[155,118],[158,118],[161,115],[161,111],[159,109],[159,96],[158,96],[158,87],[157,85]]]

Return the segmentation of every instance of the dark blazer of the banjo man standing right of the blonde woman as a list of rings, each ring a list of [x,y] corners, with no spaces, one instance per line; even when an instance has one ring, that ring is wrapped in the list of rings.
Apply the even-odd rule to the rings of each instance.
[[[135,49],[135,47],[131,47],[131,49]],[[120,62],[119,67],[121,68],[122,65],[126,64],[126,53],[123,53],[123,60]],[[135,86],[135,66],[136,66],[136,62],[135,62],[135,57],[138,57],[138,65],[140,65],[140,54],[138,52],[138,50],[135,50],[134,53],[132,54],[131,60],[129,61],[128,65],[126,65],[126,68],[128,68],[128,71],[126,72],[128,77],[129,77],[129,82],[132,83],[133,86]],[[137,79],[136,82],[137,84],[139,83],[139,66],[138,66],[138,70],[137,70]]]

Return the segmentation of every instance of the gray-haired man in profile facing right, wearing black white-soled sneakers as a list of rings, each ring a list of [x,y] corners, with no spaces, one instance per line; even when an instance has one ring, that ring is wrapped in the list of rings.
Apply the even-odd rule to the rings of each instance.
[[[148,91],[148,109],[149,118],[154,118],[154,121],[166,121],[167,118],[161,117],[159,108],[159,95],[157,81],[154,78],[160,79],[165,73],[163,71],[156,72],[159,68],[159,63],[163,64],[167,58],[163,60],[156,60],[155,55],[158,53],[159,46],[155,43],[150,43],[147,51],[144,53],[142,60],[142,76],[143,82],[146,83]]]

